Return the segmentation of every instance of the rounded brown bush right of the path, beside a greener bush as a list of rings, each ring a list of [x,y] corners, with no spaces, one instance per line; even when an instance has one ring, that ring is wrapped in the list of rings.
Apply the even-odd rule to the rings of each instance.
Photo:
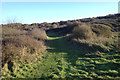
[[[90,39],[95,37],[89,25],[78,24],[73,29],[73,37],[77,39]]]

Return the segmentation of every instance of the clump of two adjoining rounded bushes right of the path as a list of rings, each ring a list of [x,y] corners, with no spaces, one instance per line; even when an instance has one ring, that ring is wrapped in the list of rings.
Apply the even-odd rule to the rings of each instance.
[[[93,24],[91,27],[86,24],[79,24],[74,27],[72,37],[75,42],[85,43],[89,46],[99,46],[105,52],[113,49],[116,43],[111,28],[103,24]]]

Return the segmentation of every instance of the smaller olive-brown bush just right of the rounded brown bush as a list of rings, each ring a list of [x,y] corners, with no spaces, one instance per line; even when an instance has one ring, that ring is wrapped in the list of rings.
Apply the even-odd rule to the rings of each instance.
[[[104,24],[93,24],[92,30],[93,32],[96,33],[97,36],[108,37],[108,38],[112,37],[111,28]]]

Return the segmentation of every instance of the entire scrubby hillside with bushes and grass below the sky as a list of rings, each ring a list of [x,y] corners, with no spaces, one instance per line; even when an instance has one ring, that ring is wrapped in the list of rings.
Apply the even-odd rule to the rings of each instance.
[[[2,78],[120,79],[119,19],[2,25]]]

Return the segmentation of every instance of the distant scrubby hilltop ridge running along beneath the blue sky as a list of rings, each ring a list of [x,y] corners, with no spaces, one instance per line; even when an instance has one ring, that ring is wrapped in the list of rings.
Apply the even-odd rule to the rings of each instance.
[[[109,14],[106,16],[98,16],[98,17],[92,17],[92,18],[83,18],[83,19],[76,19],[76,20],[67,20],[67,21],[60,21],[60,22],[53,22],[53,23],[32,23],[32,24],[22,24],[22,23],[10,23],[10,24],[16,24],[18,26],[34,26],[39,27],[43,29],[52,29],[52,28],[60,28],[65,27],[70,23],[88,23],[88,24],[105,24],[110,27],[112,27],[114,30],[118,30],[119,25],[119,19],[120,19],[120,13],[117,14]],[[2,24],[2,26],[7,26],[9,24]]]

